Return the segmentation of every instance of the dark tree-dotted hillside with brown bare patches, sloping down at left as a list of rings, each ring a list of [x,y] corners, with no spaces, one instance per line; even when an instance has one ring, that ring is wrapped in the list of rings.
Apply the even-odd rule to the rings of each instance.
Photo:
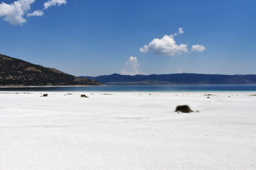
[[[69,75],[54,68],[0,54],[0,86],[103,85],[96,80]]]

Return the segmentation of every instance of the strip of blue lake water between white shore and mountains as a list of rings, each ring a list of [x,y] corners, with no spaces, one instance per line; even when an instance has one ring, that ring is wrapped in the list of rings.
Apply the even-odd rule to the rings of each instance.
[[[77,86],[2,87],[0,91],[25,92],[254,92],[256,85],[177,85],[177,86]]]

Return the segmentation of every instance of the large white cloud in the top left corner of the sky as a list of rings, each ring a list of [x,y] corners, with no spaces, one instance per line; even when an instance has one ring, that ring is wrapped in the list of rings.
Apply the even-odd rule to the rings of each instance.
[[[34,2],[35,0],[18,0],[11,4],[2,2],[0,4],[0,17],[4,17],[4,21],[11,25],[21,25],[27,22],[23,16],[30,10],[30,5]]]

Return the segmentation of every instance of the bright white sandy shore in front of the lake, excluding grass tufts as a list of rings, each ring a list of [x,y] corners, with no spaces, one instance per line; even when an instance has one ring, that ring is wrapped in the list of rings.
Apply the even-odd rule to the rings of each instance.
[[[256,93],[106,93],[0,92],[0,170],[256,169]]]

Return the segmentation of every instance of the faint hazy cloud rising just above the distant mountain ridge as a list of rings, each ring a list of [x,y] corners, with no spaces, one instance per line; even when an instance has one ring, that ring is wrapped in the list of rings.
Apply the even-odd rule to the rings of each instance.
[[[134,76],[134,75],[145,75],[145,72],[139,72],[138,71],[138,61],[136,57],[130,57],[128,61],[126,61],[125,63],[125,67],[126,69],[123,69],[122,71],[120,71],[120,74],[122,75],[130,75],[130,76]]]

